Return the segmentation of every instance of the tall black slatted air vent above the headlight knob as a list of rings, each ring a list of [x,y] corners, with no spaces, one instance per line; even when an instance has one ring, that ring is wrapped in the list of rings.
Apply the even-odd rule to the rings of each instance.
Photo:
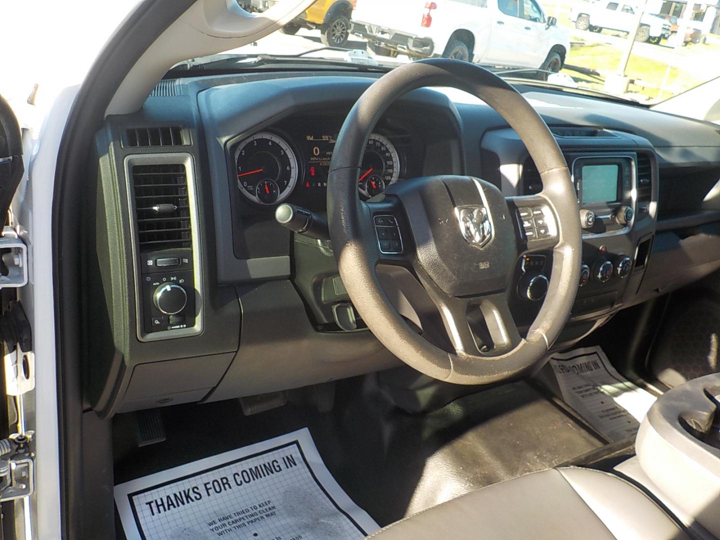
[[[132,185],[140,252],[189,248],[192,235],[185,166],[134,165]]]

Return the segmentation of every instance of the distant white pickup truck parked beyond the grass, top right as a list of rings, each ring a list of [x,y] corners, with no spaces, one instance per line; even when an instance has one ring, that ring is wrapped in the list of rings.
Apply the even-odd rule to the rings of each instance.
[[[570,9],[570,20],[578,30],[600,32],[603,28],[631,34],[635,31],[636,12],[639,8],[633,2],[622,0],[582,1]],[[636,41],[660,43],[663,37],[670,37],[670,23],[664,19],[644,13],[635,36]]]

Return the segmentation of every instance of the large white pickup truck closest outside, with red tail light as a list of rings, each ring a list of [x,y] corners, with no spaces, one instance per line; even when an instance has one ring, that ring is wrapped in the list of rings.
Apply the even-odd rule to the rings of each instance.
[[[559,71],[570,40],[536,0],[359,0],[353,32],[375,53]]]

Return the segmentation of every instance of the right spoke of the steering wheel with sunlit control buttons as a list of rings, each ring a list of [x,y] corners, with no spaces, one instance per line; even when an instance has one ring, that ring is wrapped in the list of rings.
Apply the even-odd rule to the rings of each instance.
[[[553,249],[559,242],[557,215],[552,205],[539,193],[522,197],[505,197],[518,238],[521,255]]]

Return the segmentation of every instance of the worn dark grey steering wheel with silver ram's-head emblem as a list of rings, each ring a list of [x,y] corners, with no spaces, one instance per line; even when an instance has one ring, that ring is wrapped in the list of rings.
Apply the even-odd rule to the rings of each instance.
[[[423,86],[462,89],[495,109],[528,148],[542,191],[503,197],[473,176],[425,176],[361,201],[360,164],[374,125],[392,102]],[[546,234],[528,238],[522,220],[533,216],[545,220]],[[582,247],[570,171],[539,114],[480,66],[420,60],[395,68],[362,94],[330,162],[328,225],[341,279],[361,318],[392,354],[430,377],[460,384],[511,377],[546,354],[570,316]],[[547,294],[523,338],[508,305],[516,294],[513,276],[523,257],[550,251]],[[446,346],[423,338],[397,312],[380,284],[379,265],[410,271],[444,326]],[[431,336],[433,330],[423,333]]]

